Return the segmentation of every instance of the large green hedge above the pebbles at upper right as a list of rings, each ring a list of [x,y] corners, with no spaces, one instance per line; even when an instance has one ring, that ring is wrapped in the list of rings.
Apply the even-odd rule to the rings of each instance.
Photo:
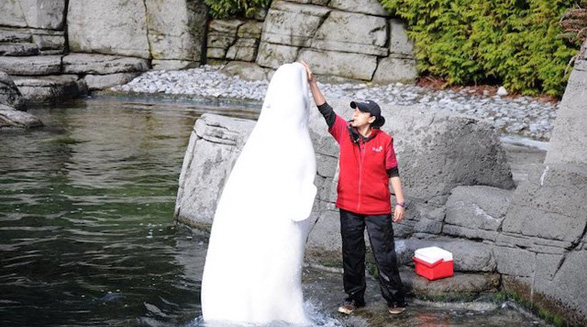
[[[450,84],[560,96],[580,48],[561,37],[559,20],[572,0],[380,1],[407,21],[419,71]]]

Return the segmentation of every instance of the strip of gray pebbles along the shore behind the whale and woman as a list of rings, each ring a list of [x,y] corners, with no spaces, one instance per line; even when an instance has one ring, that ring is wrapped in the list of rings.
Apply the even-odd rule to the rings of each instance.
[[[223,66],[203,65],[178,71],[149,71],[131,82],[113,87],[116,92],[159,93],[204,98],[231,98],[263,101],[266,80],[245,81],[221,72]],[[419,105],[428,110],[459,113],[486,120],[505,135],[534,140],[550,139],[558,104],[519,96],[476,95],[470,89],[433,90],[412,84],[318,83],[325,97],[371,99],[381,105]]]

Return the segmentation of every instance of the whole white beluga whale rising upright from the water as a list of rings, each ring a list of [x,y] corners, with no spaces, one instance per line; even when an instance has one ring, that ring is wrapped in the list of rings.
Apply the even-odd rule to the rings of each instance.
[[[304,66],[280,66],[214,214],[201,289],[207,324],[310,323],[301,285],[317,191],[309,111]]]

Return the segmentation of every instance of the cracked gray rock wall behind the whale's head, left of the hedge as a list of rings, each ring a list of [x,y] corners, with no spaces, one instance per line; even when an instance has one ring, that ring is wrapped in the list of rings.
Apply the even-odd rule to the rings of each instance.
[[[273,1],[264,22],[212,21],[207,57],[276,69],[305,60],[331,78],[413,82],[413,44],[377,0]]]

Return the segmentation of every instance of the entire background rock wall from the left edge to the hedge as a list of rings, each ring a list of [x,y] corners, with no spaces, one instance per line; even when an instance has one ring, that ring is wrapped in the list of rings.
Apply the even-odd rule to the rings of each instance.
[[[209,24],[203,0],[6,0],[0,9],[0,70],[23,76],[18,86],[30,103],[124,84],[148,69],[191,68],[206,58],[228,63],[227,74],[245,79],[266,79],[297,60],[334,81],[417,77],[402,23],[378,0],[276,0],[257,20]],[[113,68],[96,69],[99,56],[102,67]],[[135,69],[120,64],[121,57]],[[68,62],[85,59],[92,68],[77,65],[77,91],[55,77],[72,74]]]

